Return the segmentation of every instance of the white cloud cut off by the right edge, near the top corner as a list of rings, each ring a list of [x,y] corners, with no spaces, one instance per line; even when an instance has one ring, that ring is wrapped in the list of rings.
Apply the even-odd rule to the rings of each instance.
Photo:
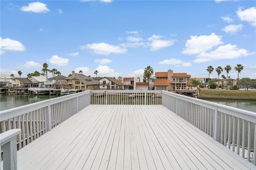
[[[238,18],[242,21],[249,22],[252,26],[256,26],[256,8],[251,7],[246,10],[242,10],[242,8],[238,8],[236,11]]]

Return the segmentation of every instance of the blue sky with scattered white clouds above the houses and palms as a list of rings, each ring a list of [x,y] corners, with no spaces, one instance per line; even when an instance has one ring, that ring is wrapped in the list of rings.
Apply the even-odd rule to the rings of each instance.
[[[207,66],[242,64],[256,79],[255,1],[0,1],[0,74],[72,70],[135,77],[150,65],[208,77]],[[222,72],[221,75],[226,75]],[[52,77],[51,73],[48,73]],[[214,71],[211,78],[218,78]]]

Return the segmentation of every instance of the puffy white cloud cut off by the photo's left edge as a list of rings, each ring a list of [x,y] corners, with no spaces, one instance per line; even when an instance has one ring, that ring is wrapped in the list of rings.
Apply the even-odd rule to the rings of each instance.
[[[26,47],[17,40],[12,40],[10,38],[1,38],[0,37],[0,54],[5,53],[6,51],[25,51]]]

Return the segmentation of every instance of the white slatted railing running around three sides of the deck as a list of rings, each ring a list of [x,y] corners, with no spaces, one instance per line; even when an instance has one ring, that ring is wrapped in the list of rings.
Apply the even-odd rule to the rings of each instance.
[[[256,165],[256,113],[167,91],[92,90],[0,112],[0,132],[20,128],[18,148],[90,104],[164,105],[214,140]]]

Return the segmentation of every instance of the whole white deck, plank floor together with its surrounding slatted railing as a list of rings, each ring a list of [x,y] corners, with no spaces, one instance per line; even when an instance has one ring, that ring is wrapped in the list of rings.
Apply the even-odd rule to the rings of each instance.
[[[256,113],[167,91],[84,91],[0,118],[22,130],[18,169],[256,168]]]

